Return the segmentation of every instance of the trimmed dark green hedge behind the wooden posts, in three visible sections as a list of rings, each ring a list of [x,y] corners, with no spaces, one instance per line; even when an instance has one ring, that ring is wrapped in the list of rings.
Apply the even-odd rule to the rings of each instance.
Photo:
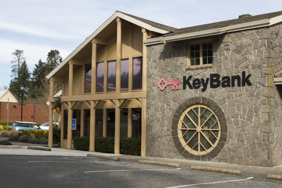
[[[73,137],[73,147],[89,151],[89,137]],[[95,137],[95,152],[114,153],[115,137]],[[141,155],[140,138],[120,138],[120,154]]]

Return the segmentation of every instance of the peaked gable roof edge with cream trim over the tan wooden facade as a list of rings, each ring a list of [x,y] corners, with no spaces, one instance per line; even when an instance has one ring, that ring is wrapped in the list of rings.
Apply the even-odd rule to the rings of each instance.
[[[142,28],[145,28],[149,31],[154,31],[160,34],[170,33],[175,31],[176,28],[169,27],[163,24],[158,24],[153,21],[139,18],[130,14],[125,14],[123,12],[116,11],[109,19],[107,19],[94,33],[92,33],[88,38],[83,41],[68,57],[66,57],[54,70],[49,73],[46,78],[50,79],[60,68],[62,68],[68,61],[70,61],[75,54],[77,54],[86,44],[88,44],[96,35],[98,35],[108,24],[110,24],[117,17],[131,22],[132,24],[138,25]]]

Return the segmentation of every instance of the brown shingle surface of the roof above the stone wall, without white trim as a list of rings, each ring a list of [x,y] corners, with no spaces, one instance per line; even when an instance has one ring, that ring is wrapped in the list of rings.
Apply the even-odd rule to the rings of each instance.
[[[173,33],[167,33],[167,34],[161,35],[161,37],[174,36],[174,35],[180,35],[180,34],[185,34],[185,33],[193,33],[197,31],[221,28],[221,27],[231,26],[231,25],[236,25],[236,24],[244,24],[244,23],[248,23],[252,21],[270,19],[270,18],[279,16],[279,15],[282,15],[282,11],[272,12],[268,14],[260,14],[256,16],[247,16],[243,18],[232,19],[232,20],[227,20],[227,21],[220,21],[220,22],[204,24],[204,25],[199,25],[199,26],[185,27],[185,28],[177,29]],[[160,37],[160,35],[157,37]]]

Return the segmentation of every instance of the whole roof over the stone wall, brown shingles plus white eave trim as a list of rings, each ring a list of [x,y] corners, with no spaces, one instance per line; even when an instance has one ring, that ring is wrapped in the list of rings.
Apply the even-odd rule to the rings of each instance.
[[[282,11],[260,14],[256,16],[245,16],[238,19],[220,21],[211,24],[180,28],[173,33],[152,37],[144,41],[145,45],[162,43],[163,41],[177,41],[188,38],[217,35],[221,33],[270,26],[282,21]]]

